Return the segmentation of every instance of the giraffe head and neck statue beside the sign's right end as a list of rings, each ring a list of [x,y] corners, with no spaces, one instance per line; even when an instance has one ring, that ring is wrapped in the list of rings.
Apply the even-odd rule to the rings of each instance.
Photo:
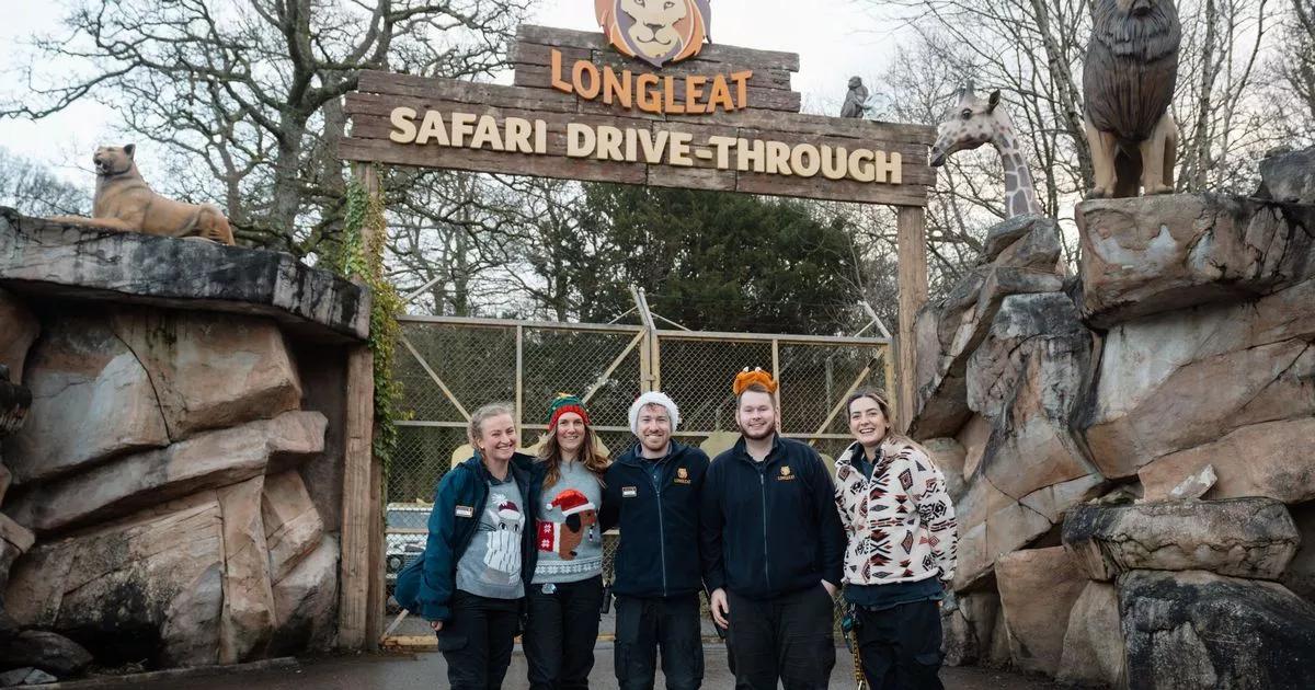
[[[936,127],[936,145],[931,147],[931,167],[967,149],[977,149],[990,142],[999,151],[1005,166],[1005,216],[1041,214],[1032,187],[1032,173],[1027,170],[1023,151],[1018,147],[1014,124],[999,105],[999,91],[988,99],[973,93],[973,83],[959,89],[959,101],[952,114]]]

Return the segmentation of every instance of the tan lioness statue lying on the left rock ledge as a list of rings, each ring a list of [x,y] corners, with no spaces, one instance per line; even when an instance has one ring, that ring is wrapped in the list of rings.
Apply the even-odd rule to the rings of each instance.
[[[233,229],[224,213],[210,204],[187,204],[151,191],[137,171],[137,146],[101,146],[92,156],[96,196],[92,217],[58,216],[51,219],[164,237],[200,237],[233,244]]]

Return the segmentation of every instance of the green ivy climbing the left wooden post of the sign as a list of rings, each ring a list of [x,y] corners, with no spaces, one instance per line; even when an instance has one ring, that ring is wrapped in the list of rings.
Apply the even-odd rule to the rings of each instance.
[[[366,233],[367,229],[370,233]],[[360,181],[352,179],[347,185],[347,213],[337,268],[343,277],[368,285],[373,297],[370,309],[370,350],[375,356],[373,452],[387,474],[397,448],[397,422],[402,418],[398,410],[401,381],[393,373],[393,355],[401,335],[397,317],[404,305],[397,289],[384,279],[385,235],[383,200],[371,198]]]

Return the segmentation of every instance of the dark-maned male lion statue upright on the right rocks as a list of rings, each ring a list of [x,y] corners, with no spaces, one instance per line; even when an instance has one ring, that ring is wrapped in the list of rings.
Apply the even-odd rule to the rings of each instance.
[[[1173,192],[1178,126],[1169,101],[1182,28],[1173,0],[1094,0],[1082,71],[1095,185],[1088,198]]]

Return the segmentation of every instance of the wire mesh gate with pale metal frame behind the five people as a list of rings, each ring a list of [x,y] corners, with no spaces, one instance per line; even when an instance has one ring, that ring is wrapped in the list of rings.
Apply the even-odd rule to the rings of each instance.
[[[877,338],[446,317],[404,317],[396,367],[406,421],[385,484],[389,591],[396,573],[423,549],[439,480],[471,455],[466,427],[480,405],[514,403],[521,444],[530,448],[547,430],[548,402],[558,393],[583,396],[598,439],[618,455],[634,443],[630,403],[656,386],[680,405],[680,440],[698,446],[735,431],[731,381],[746,367],[761,367],[781,384],[781,432],[835,457],[848,444],[847,396],[893,384],[889,344]],[[608,535],[604,543],[608,573],[615,541]]]

